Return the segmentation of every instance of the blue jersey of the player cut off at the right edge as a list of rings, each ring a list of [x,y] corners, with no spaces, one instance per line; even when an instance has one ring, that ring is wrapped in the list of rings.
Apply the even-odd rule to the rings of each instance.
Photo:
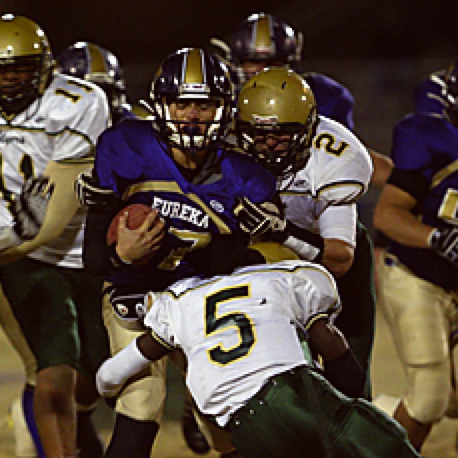
[[[415,209],[421,221],[458,225],[458,128],[436,115],[406,116],[394,129],[391,157],[397,169],[418,171],[428,183]],[[390,242],[390,251],[421,278],[456,289],[458,268],[433,250]]]

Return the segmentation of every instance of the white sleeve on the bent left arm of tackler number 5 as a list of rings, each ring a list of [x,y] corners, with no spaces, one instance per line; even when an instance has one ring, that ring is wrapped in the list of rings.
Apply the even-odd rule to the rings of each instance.
[[[138,374],[151,361],[145,358],[137,348],[136,339],[115,356],[107,359],[97,371],[97,391],[102,396],[116,396],[127,379]]]

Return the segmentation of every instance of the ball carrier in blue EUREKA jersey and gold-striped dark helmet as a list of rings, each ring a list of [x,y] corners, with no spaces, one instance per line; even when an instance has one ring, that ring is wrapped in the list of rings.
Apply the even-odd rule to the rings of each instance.
[[[119,325],[110,298],[116,303],[125,294],[162,291],[183,277],[232,269],[239,262],[235,248],[248,243],[233,213],[238,198],[262,203],[275,194],[275,178],[268,171],[220,147],[233,97],[228,69],[216,56],[197,48],[174,52],[152,83],[154,121],[133,120],[108,129],[97,144],[97,182],[77,185],[83,200],[89,196],[92,204],[85,265],[109,280],[104,320],[113,353],[138,332]],[[131,203],[152,206],[163,221],[150,227],[153,212],[138,230],[129,230],[122,216],[118,241],[108,246],[112,218]],[[135,263],[152,251],[149,263]],[[147,377],[120,393],[106,456],[150,456],[164,401],[164,370],[164,359],[155,362]]]

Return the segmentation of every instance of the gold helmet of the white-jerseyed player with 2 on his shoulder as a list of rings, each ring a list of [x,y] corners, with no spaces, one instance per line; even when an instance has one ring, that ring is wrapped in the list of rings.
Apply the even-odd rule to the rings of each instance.
[[[306,164],[317,125],[315,98],[293,70],[265,69],[240,91],[239,147],[277,176],[294,173]]]

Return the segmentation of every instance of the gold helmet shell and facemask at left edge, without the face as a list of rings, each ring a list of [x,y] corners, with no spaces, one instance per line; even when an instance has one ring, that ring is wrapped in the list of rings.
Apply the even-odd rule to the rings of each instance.
[[[14,14],[0,19],[0,71],[3,66],[30,65],[35,68],[30,81],[18,88],[14,97],[0,88],[0,107],[7,112],[19,112],[41,96],[53,67],[49,41],[34,21]]]

